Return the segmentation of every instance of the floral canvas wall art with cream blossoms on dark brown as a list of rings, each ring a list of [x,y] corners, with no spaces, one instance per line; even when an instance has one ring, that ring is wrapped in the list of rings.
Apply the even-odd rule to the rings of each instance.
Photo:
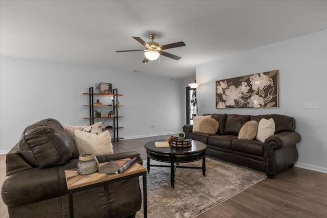
[[[278,70],[216,81],[216,108],[278,108]]]

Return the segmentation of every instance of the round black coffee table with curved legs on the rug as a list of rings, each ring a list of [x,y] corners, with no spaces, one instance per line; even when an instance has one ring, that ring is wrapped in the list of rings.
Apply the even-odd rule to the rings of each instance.
[[[174,188],[175,183],[175,169],[176,168],[193,168],[202,169],[202,175],[205,176],[205,150],[206,144],[200,141],[192,140],[192,146],[189,148],[172,147],[169,148],[156,148],[156,141],[165,141],[165,139],[149,141],[145,144],[144,148],[147,150],[147,169],[150,172],[150,166],[170,167],[170,182]],[[169,165],[154,165],[150,164],[150,159],[168,162]],[[202,159],[202,167],[196,166],[180,166],[179,163],[189,163]]]

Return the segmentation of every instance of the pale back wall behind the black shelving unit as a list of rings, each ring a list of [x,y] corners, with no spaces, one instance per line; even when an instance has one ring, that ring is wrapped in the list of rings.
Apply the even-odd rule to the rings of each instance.
[[[89,125],[89,120],[82,118],[89,114],[88,107],[82,107],[88,105],[88,95],[82,93],[99,82],[112,83],[124,94],[119,98],[123,105],[119,115],[124,116],[119,122],[124,127],[121,137],[181,132],[185,123],[181,79],[171,83],[171,78],[10,57],[1,57],[0,62],[1,153],[8,152],[22,131],[40,119]]]

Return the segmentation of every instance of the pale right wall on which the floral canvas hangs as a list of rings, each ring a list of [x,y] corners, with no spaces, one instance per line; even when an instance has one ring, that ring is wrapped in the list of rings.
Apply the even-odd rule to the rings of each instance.
[[[278,70],[279,108],[216,109],[215,81]],[[274,43],[197,66],[199,114],[285,114],[302,139],[297,166],[327,173],[327,30]],[[319,109],[303,109],[319,102]]]

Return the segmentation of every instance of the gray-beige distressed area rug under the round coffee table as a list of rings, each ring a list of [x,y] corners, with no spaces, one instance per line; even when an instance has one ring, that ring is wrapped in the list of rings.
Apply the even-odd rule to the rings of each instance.
[[[206,156],[206,177],[202,169],[177,168],[175,188],[170,168],[151,167],[147,175],[149,218],[195,217],[266,178],[266,173]],[[151,164],[169,163],[150,160]],[[143,165],[147,166],[147,161]],[[180,165],[202,166],[202,160]],[[143,181],[140,177],[141,190]],[[143,217],[143,204],[136,217]]]

